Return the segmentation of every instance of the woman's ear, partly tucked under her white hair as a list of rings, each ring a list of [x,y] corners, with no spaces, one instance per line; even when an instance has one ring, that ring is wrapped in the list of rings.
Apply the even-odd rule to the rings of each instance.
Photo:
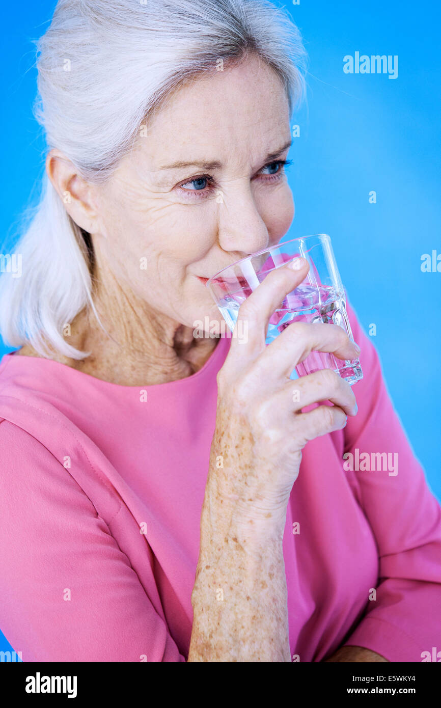
[[[79,175],[74,164],[59,150],[46,158],[46,171],[69,216],[89,234],[101,233],[101,219],[95,204],[93,185]]]

